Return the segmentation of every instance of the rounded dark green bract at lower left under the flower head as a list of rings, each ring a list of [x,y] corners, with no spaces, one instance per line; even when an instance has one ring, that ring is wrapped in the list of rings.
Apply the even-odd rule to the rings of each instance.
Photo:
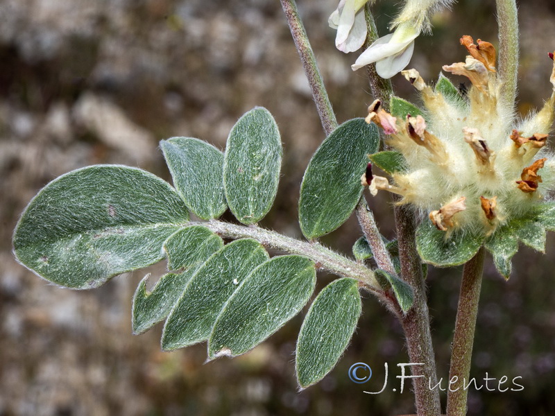
[[[450,234],[425,219],[416,229],[416,248],[423,261],[438,267],[459,266],[478,252],[484,236],[455,229]]]

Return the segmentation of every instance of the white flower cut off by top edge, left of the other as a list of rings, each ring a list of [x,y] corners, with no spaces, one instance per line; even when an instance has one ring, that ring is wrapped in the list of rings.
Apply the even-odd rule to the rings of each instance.
[[[335,46],[341,52],[354,52],[366,40],[364,5],[368,0],[341,0],[328,23],[337,29]]]

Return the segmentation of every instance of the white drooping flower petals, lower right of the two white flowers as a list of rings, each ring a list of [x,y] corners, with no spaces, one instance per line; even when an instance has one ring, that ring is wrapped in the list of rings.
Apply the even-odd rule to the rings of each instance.
[[[361,53],[353,71],[376,62],[376,72],[382,78],[391,78],[409,64],[414,51],[414,40],[420,30],[410,22],[400,24],[395,32],[380,37]]]

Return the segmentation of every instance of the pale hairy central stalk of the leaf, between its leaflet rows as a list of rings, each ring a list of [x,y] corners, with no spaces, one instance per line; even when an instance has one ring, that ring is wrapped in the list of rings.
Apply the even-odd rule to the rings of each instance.
[[[372,270],[356,261],[341,256],[341,254],[330,250],[320,243],[307,243],[306,241],[293,239],[255,225],[246,227],[219,220],[210,220],[207,223],[187,223],[187,226],[189,225],[202,225],[225,239],[255,239],[267,248],[309,257],[316,262],[318,270],[325,270],[340,277],[357,279],[365,285],[368,291],[382,299],[384,292],[380,288]]]

